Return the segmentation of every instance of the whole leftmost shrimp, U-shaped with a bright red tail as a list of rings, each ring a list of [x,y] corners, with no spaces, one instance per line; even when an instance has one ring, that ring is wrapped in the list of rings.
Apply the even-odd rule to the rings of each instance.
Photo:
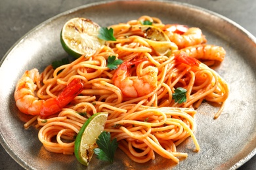
[[[39,78],[37,69],[26,71],[22,78],[18,80],[14,92],[16,106],[25,114],[48,116],[59,112],[63,107],[77,96],[83,89],[83,84],[79,78],[75,78],[64,88],[56,98],[40,100],[35,97],[34,91],[37,88],[35,81]]]

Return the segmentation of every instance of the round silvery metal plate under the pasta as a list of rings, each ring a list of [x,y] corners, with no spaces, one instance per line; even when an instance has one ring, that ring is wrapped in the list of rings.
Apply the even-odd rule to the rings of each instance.
[[[142,15],[156,16],[165,24],[200,27],[207,44],[223,46],[226,58],[216,71],[230,85],[230,95],[217,120],[217,108],[204,104],[196,114],[195,135],[201,150],[193,152],[192,140],[178,150],[188,158],[179,165],[156,156],[148,163],[135,163],[121,150],[108,164],[93,158],[88,169],[236,169],[256,153],[256,41],[240,25],[209,10],[167,1],[105,1],[58,14],[16,42],[0,67],[0,141],[5,150],[25,169],[84,169],[75,156],[47,152],[34,127],[24,129],[30,117],[14,103],[16,81],[27,69],[42,71],[52,61],[67,56],[60,44],[60,29],[74,17],[90,18],[101,26],[127,22]],[[10,74],[12,73],[12,74]],[[4,83],[3,83],[4,80]]]

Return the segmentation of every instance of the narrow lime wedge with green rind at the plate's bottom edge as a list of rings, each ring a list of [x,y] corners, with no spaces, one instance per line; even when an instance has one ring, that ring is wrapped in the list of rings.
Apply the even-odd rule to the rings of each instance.
[[[108,113],[98,112],[93,114],[86,122],[83,124],[77,137],[75,139],[75,157],[83,165],[89,164],[89,161],[93,157],[96,148],[96,139],[102,131],[104,131],[104,126],[108,118]]]

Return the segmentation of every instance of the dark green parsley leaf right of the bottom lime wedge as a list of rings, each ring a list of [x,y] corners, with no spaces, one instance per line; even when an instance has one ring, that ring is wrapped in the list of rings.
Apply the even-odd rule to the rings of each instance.
[[[111,141],[110,132],[103,131],[96,140],[99,148],[94,148],[98,160],[110,161],[113,163],[114,154],[118,147],[116,138]]]

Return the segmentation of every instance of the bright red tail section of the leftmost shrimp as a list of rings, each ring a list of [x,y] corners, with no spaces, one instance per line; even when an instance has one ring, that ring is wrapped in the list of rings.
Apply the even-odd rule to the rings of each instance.
[[[56,98],[47,99],[41,106],[40,115],[49,116],[59,112],[63,107],[68,105],[81,91],[83,84],[79,78],[74,78]]]

